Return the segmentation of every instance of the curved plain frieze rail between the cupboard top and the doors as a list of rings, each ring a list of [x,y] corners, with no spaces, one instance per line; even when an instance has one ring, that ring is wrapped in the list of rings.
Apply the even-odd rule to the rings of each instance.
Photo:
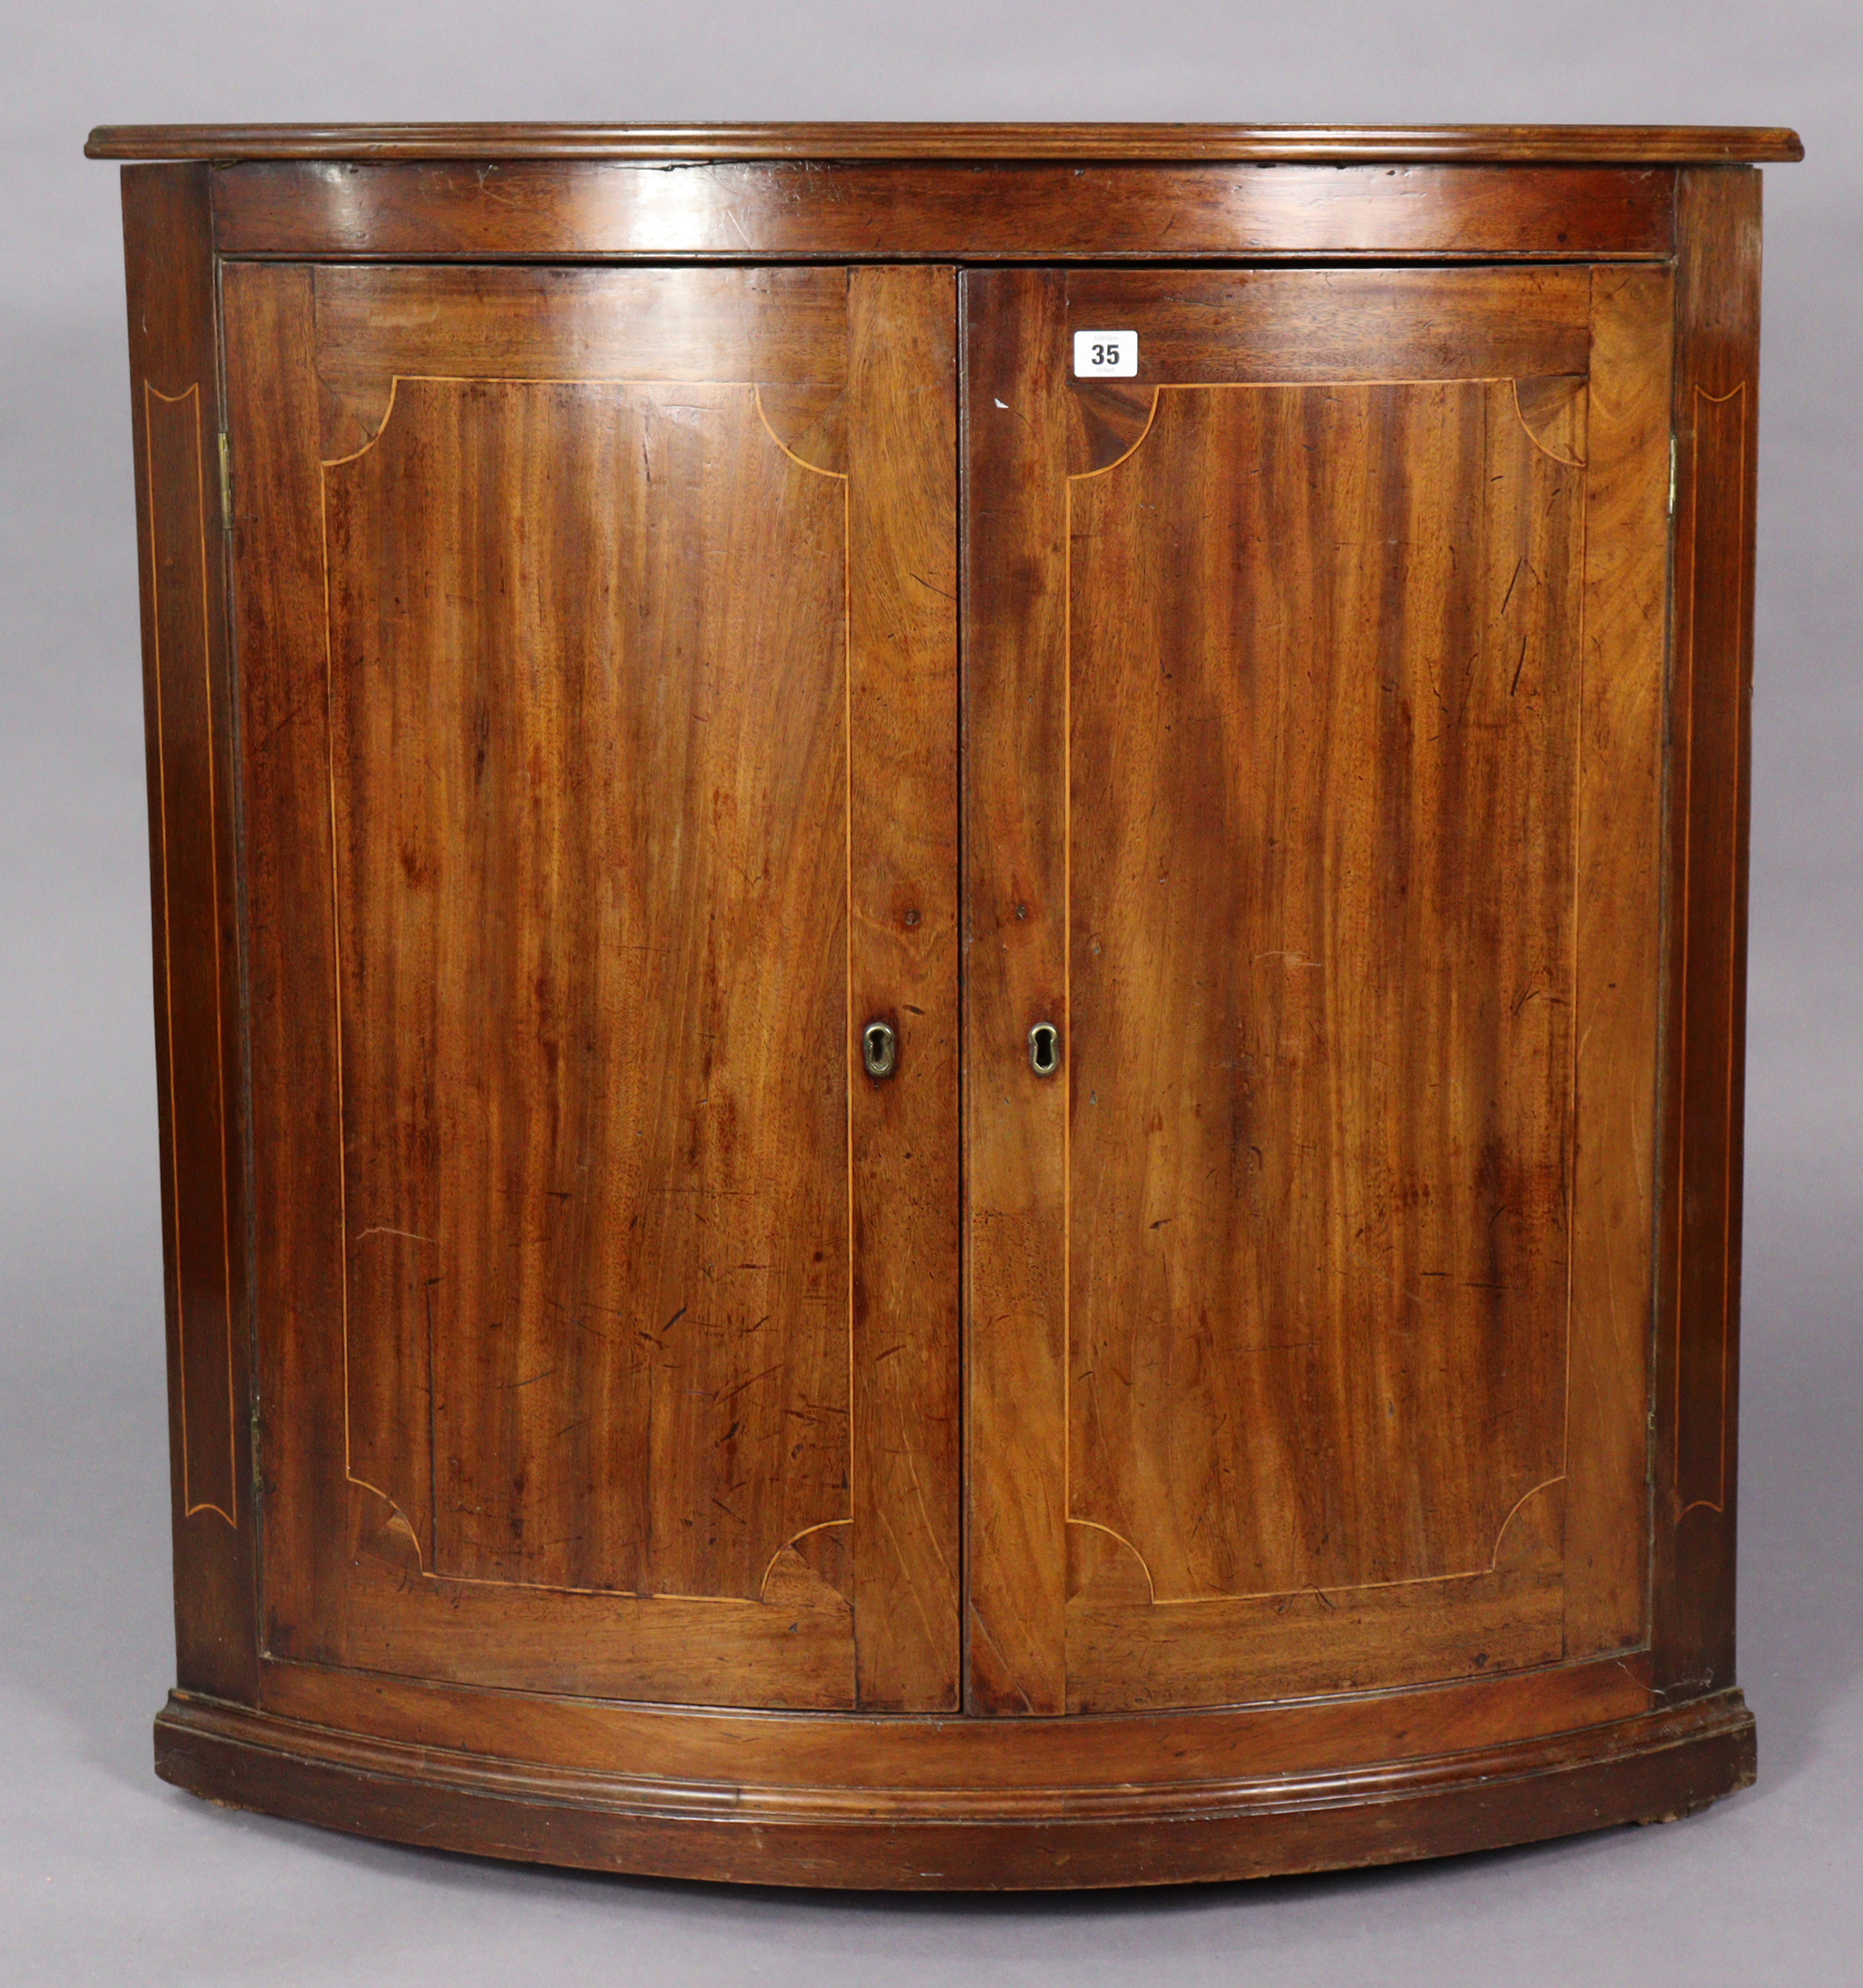
[[[229,165],[237,256],[1179,264],[1207,256],[1666,256],[1642,165],[404,163]]]

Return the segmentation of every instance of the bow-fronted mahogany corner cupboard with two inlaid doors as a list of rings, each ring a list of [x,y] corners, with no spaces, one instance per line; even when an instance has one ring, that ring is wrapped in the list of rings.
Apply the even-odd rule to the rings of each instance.
[[[1787,131],[105,129],[217,1801],[1700,1807]]]

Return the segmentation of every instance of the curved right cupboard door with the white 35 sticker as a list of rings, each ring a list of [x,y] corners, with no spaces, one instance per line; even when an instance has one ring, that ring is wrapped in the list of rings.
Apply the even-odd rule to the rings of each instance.
[[[1670,276],[966,282],[968,1704],[1636,1646]]]

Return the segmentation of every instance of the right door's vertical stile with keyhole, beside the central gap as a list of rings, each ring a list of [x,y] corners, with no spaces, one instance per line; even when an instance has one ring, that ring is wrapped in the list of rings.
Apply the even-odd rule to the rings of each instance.
[[[972,1712],[1066,1710],[1064,278],[964,278],[964,1149]],[[1038,1077],[1028,1032],[1060,1030]]]

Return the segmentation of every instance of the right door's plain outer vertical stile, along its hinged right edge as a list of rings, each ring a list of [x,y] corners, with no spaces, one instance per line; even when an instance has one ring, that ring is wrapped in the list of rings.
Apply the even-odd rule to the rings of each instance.
[[[1597,270],[1585,443],[1565,1654],[1640,1642],[1648,1584],[1668,270]]]

